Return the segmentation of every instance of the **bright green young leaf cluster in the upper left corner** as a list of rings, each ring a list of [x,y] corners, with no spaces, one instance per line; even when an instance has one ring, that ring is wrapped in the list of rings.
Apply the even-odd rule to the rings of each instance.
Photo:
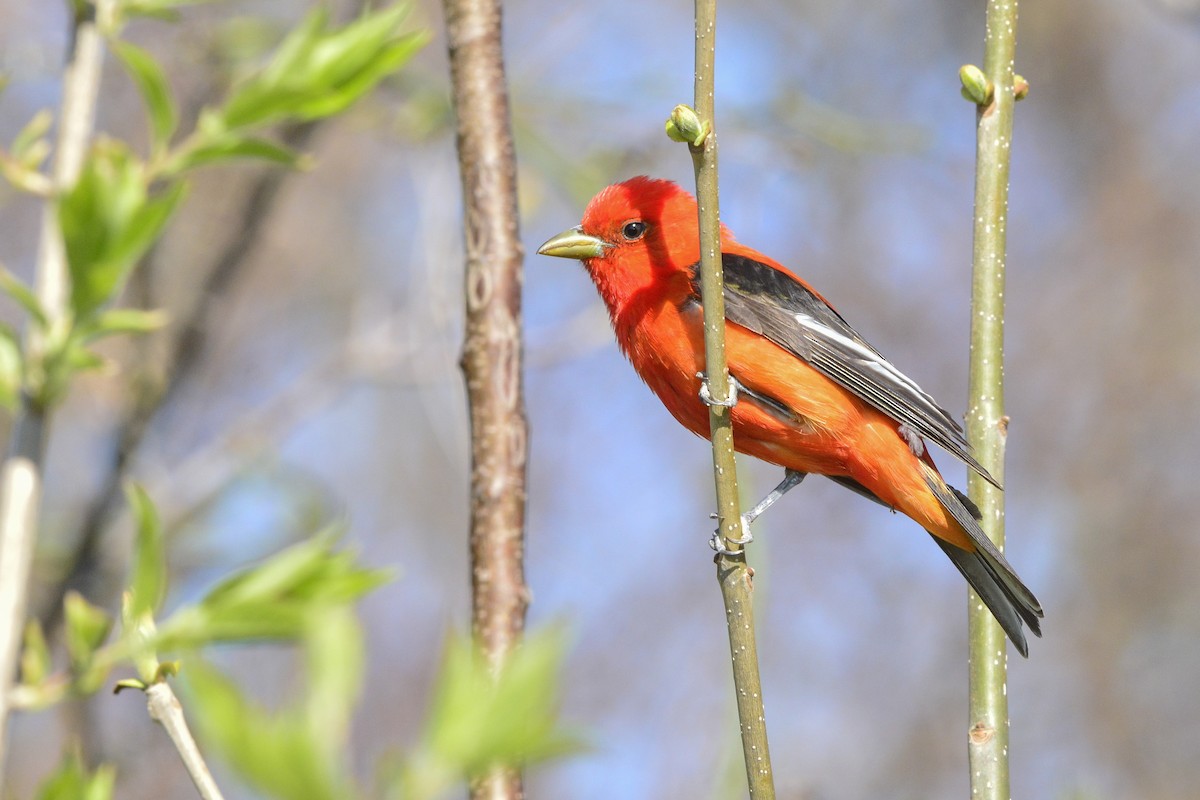
[[[146,50],[116,38],[130,16],[169,16],[180,0],[136,0],[118,7],[108,31],[113,50],[146,109],[150,152],[101,138],[88,152],[79,179],[54,187],[42,170],[50,151],[49,113],[40,113],[7,150],[0,174],[14,187],[56,203],[70,275],[67,308],[52,309],[25,283],[0,267],[0,290],[29,314],[42,343],[25,353],[16,333],[0,327],[0,404],[13,408],[24,391],[49,408],[71,379],[104,366],[92,345],[101,338],[161,327],[152,311],[115,311],[130,273],[162,235],[187,193],[187,178],[200,167],[258,160],[304,164],[300,154],[272,142],[269,132],[287,122],[337,114],[396,72],[427,41],[425,32],[401,32],[407,6],[364,13],[330,25],[328,11],[312,11],[283,38],[258,71],[233,85],[227,97],[200,114],[196,130],[179,139],[179,110],[162,66]]]

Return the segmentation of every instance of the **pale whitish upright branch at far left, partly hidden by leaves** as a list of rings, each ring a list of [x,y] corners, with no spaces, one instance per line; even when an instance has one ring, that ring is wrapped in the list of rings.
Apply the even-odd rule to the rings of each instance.
[[[54,156],[54,187],[62,192],[76,184],[91,139],[100,94],[104,43],[102,28],[112,22],[113,1],[74,6],[72,50],[62,76],[62,107]],[[35,283],[47,318],[44,332],[54,336],[67,317],[67,264],[58,222],[58,201],[42,211]],[[26,363],[36,363],[44,349],[43,333],[30,326]],[[42,461],[49,411],[22,393],[8,455],[0,469],[0,786],[7,756],[10,691],[24,630],[29,573],[37,537]]]

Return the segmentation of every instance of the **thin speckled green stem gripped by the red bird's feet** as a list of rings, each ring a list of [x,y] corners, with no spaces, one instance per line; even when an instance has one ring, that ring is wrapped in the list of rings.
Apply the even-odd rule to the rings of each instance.
[[[704,305],[704,372],[709,393],[716,403],[730,395],[725,360],[725,283],[721,270],[720,210],[716,181],[716,125],[714,116],[714,62],[716,43],[716,0],[696,0],[696,114],[708,122],[703,144],[691,148],[696,169],[696,198],[700,204],[701,297]],[[733,688],[742,728],[750,796],[775,796],[770,752],[767,747],[767,720],[758,675],[758,650],[754,625],[754,571],[746,566],[740,545],[730,542],[742,534],[737,464],[733,457],[733,426],[730,410],[709,407],[713,438],[713,475],[716,481],[718,530],[732,555],[716,558],[716,578],[725,600],[725,618],[733,657]]]

